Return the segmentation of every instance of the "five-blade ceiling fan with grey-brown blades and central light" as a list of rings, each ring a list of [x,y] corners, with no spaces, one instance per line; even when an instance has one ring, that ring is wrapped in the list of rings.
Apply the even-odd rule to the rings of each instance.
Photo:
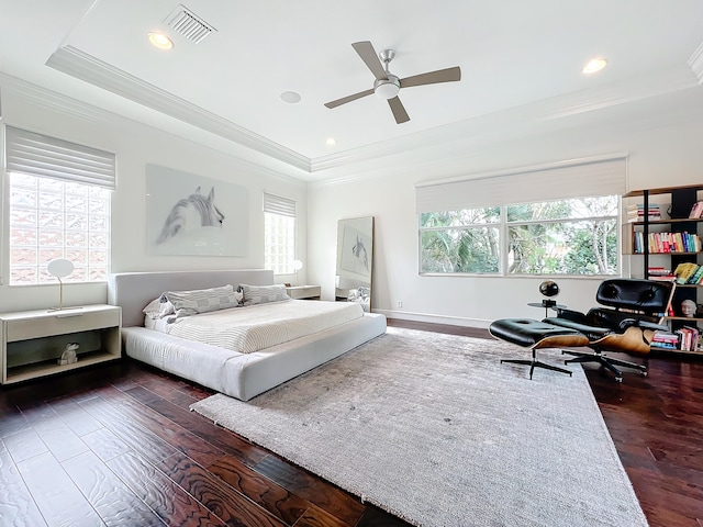
[[[391,106],[391,112],[395,117],[398,124],[410,121],[408,112],[398,98],[398,92],[401,88],[411,88],[413,86],[436,85],[438,82],[453,82],[461,80],[461,69],[458,66],[454,68],[438,69],[436,71],[428,71],[426,74],[413,75],[412,77],[405,77],[399,79],[395,75],[391,74],[388,69],[388,65],[395,56],[393,49],[383,49],[378,55],[373,49],[373,46],[369,41],[355,42],[352,47],[359,54],[361,60],[371,70],[376,80],[373,81],[373,88],[370,90],[359,91],[353,96],[343,97],[336,101],[326,102],[327,108],[337,108],[347,102],[356,101],[362,97],[376,93],[381,99],[387,99],[388,104]],[[379,60],[380,59],[380,60]],[[383,64],[381,64],[381,61]]]

